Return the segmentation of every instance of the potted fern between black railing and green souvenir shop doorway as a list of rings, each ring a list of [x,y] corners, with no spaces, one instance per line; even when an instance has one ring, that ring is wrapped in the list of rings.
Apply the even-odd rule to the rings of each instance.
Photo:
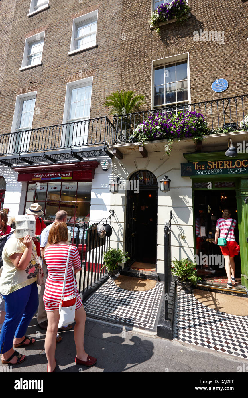
[[[175,257],[174,257],[175,258]],[[182,288],[183,291],[188,293],[188,288],[193,285],[197,285],[197,281],[201,280],[199,276],[196,275],[196,263],[193,263],[188,258],[183,258],[181,260],[172,260],[172,275],[176,276],[175,280],[178,286]]]

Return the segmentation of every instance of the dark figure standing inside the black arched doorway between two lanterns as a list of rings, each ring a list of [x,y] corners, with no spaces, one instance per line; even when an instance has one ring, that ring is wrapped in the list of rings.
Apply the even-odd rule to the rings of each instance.
[[[142,202],[137,212],[138,229],[138,261],[144,261],[149,247],[151,247],[153,236],[150,236],[150,225],[153,221],[152,215],[146,202]]]

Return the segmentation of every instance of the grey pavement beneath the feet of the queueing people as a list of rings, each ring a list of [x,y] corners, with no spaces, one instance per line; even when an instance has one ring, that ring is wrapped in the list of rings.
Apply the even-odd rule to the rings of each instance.
[[[12,367],[12,373],[45,373],[47,359],[44,351],[45,333],[33,318],[27,335],[37,339],[31,347],[19,348],[27,355],[19,366]],[[154,334],[141,334],[120,326],[86,320],[85,349],[98,361],[93,367],[77,366],[74,363],[76,349],[73,330],[61,332],[62,341],[57,344],[56,359],[59,372],[237,372],[241,366],[248,367],[246,359],[241,360],[228,354],[183,345],[177,341],[157,338]],[[244,366],[243,366],[244,364]],[[238,368],[240,369],[240,368]],[[247,368],[248,369],[248,368]]]

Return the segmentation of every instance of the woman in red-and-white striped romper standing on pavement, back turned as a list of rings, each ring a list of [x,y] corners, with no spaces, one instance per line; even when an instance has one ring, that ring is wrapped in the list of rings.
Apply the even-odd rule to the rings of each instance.
[[[48,322],[45,338],[45,353],[48,361],[47,372],[54,372],[56,368],[56,335],[59,324],[59,302],[62,296],[64,273],[68,256],[67,240],[68,229],[66,223],[55,222],[49,231],[48,244],[44,251],[44,260],[47,263],[48,271],[43,296]],[[90,355],[86,354],[84,351],[86,312],[84,311],[84,306],[77,289],[74,289],[72,266],[74,273],[82,269],[78,249],[75,246],[72,246],[70,251],[64,297],[76,294],[76,324],[74,326],[74,341],[76,345],[75,362],[77,365],[91,366],[96,363],[96,358],[90,357]]]

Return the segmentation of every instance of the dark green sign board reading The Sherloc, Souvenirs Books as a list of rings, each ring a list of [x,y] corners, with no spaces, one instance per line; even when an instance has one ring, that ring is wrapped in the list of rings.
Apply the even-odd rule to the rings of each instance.
[[[248,173],[248,159],[181,163],[181,176],[238,175]]]

